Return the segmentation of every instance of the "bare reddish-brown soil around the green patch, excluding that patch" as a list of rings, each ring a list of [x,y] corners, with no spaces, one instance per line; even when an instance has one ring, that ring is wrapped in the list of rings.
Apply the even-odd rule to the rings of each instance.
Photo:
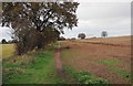
[[[125,37],[126,39],[126,37]],[[99,41],[99,39],[96,40]],[[117,39],[115,39],[116,43]],[[126,42],[130,42],[126,41]],[[115,43],[114,43],[115,44]],[[129,43],[126,43],[129,44]],[[99,77],[108,79],[111,84],[129,84],[123,77],[119,76],[114,72],[108,69],[104,64],[99,64],[98,60],[120,60],[123,63],[117,64],[126,71],[131,71],[131,47],[130,45],[119,46],[119,45],[106,45],[106,44],[93,44],[81,41],[64,41],[62,46],[70,46],[69,51],[62,52],[62,63],[63,65],[71,65],[75,69],[89,71]]]

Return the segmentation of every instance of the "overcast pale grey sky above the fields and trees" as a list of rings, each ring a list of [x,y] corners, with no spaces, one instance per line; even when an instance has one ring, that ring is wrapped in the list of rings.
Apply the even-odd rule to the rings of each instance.
[[[106,31],[109,36],[131,34],[131,0],[79,0],[76,10],[78,26],[64,29],[64,37],[78,37],[85,33],[86,37],[101,36]],[[0,40],[11,40],[11,29],[0,28]]]

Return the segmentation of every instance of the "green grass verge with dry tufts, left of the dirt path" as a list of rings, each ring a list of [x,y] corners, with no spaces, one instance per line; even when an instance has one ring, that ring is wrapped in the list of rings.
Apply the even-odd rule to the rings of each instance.
[[[53,50],[3,61],[3,84],[59,84]]]

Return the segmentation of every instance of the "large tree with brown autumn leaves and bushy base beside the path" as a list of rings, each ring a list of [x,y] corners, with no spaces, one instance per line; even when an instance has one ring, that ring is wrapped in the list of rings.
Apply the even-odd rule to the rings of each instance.
[[[14,30],[18,54],[42,49],[76,26],[78,2],[4,2],[2,25]]]

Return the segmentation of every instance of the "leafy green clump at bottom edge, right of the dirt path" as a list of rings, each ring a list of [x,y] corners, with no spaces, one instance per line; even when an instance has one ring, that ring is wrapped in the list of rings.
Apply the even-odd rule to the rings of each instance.
[[[108,85],[108,80],[93,76],[89,72],[85,71],[73,71],[70,66],[65,67],[64,71],[71,75],[79,84],[103,84]]]

